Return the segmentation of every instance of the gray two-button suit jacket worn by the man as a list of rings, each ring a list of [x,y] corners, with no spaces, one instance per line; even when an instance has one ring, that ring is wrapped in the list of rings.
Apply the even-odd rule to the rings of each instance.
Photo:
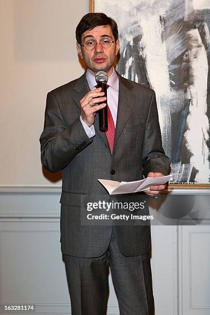
[[[61,250],[68,255],[96,257],[109,246],[111,225],[81,223],[87,202],[110,200],[98,179],[136,181],[150,171],[168,173],[170,160],[162,148],[154,91],[117,75],[119,99],[112,155],[106,134],[99,131],[98,115],[92,138],[79,119],[80,99],[90,90],[85,74],[47,95],[41,161],[51,172],[62,171]],[[116,226],[116,235],[126,256],[150,250],[150,226]]]

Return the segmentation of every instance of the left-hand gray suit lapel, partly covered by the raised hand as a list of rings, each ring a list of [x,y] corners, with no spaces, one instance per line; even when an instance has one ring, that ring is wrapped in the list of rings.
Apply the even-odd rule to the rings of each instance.
[[[90,91],[90,87],[88,84],[88,81],[86,80],[85,73],[76,81],[75,87],[74,87],[74,95],[73,99],[76,102],[77,106],[80,108],[80,100],[86,93]],[[95,131],[99,134],[103,142],[106,144],[106,146],[109,148],[109,143],[107,140],[107,136],[105,132],[101,132],[99,130],[99,120],[98,120],[98,114],[96,114],[95,122],[94,122],[94,128]]]

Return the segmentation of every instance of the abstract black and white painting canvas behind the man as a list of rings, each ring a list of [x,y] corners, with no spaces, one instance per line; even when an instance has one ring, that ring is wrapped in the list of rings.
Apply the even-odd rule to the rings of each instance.
[[[118,24],[117,71],[156,93],[173,183],[210,184],[210,0],[95,0],[94,11]]]

